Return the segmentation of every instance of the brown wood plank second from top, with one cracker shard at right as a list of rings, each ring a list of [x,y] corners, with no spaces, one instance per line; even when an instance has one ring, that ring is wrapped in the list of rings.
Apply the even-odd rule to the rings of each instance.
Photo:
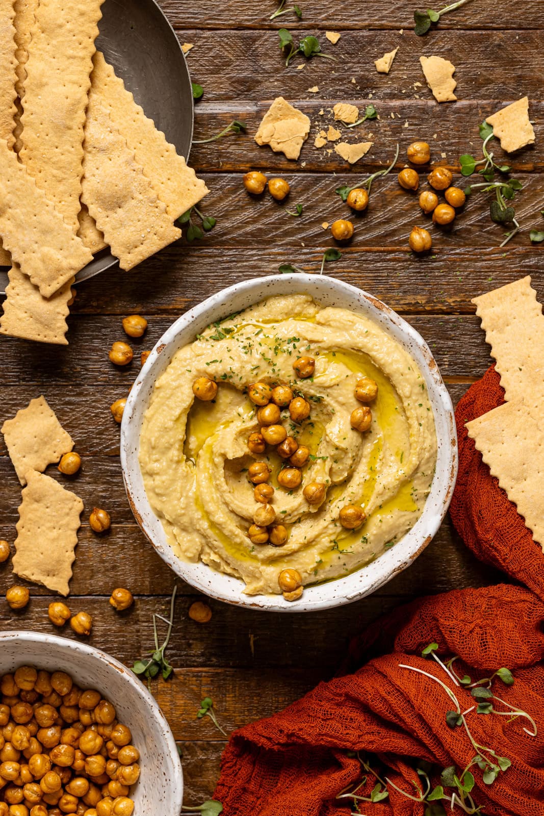
[[[542,10],[540,18],[544,20]],[[291,28],[288,16],[283,21],[280,19],[277,28],[285,25]],[[314,33],[315,29],[303,22],[294,37],[299,39]],[[539,99],[541,96],[542,31],[437,29],[427,38],[421,38],[410,30],[402,35],[392,31],[357,30],[343,33],[336,46],[319,33],[321,50],[334,60],[318,57],[306,60],[297,55],[287,67],[275,29],[238,31],[234,36],[225,36],[223,31],[184,29],[178,36],[181,42],[194,43],[188,65],[195,81],[204,87],[204,99],[208,102],[262,100],[264,89],[267,98],[289,95],[290,99],[338,97],[336,101],[346,101],[374,94],[376,100],[382,101],[419,98],[431,101],[433,97],[419,63],[421,55],[431,54],[442,55],[455,65],[458,82],[455,93],[459,100],[515,100],[523,94]],[[390,73],[378,73],[374,60],[397,46],[399,51]],[[531,60],[527,60],[528,53],[532,55]],[[299,69],[299,65],[303,65],[303,69]],[[352,78],[355,83],[351,82]],[[414,86],[414,83],[419,84]],[[308,94],[307,89],[314,85],[319,86],[319,94]],[[457,109],[458,104],[435,103],[433,107],[437,113],[440,110],[438,121],[443,109]],[[457,130],[461,129],[458,126]]]

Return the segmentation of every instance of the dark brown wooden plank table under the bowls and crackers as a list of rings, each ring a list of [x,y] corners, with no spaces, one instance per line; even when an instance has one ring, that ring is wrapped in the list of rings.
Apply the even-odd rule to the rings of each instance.
[[[412,226],[422,224],[422,215],[414,196],[401,190],[391,174],[374,185],[368,211],[355,219],[352,243],[327,272],[387,301],[421,332],[454,402],[490,361],[471,298],[522,273],[533,275],[544,297],[542,255],[529,242],[529,228],[544,224],[539,213],[544,206],[542,175],[537,175],[544,169],[544,102],[538,101],[544,70],[542,0],[526,0],[523,14],[506,0],[473,0],[444,16],[440,29],[427,38],[413,32],[415,0],[300,2],[302,21],[290,12],[270,23],[273,0],[162,0],[180,41],[194,43],[188,63],[193,80],[205,89],[196,105],[195,138],[219,132],[233,118],[246,122],[249,132],[192,150],[192,165],[211,190],[203,209],[215,215],[217,226],[201,242],[179,241],[132,273],[113,270],[79,286],[69,347],[2,339],[2,419],[43,393],[83,457],[73,487],[86,510],[69,604],[93,615],[90,642],[127,664],[152,648],[152,614],[166,613],[175,577],[139,531],[122,484],[119,428],[109,406],[128,392],[139,370],[139,354],[124,369],[108,362],[109,346],[125,339],[122,317],[142,313],[148,318],[147,335],[134,343],[139,353],[152,348],[186,309],[223,286],[276,273],[285,262],[316,271],[323,251],[332,245],[321,222],[347,215],[334,195],[338,184],[353,183],[385,166],[397,141],[399,169],[407,145],[425,139],[436,163],[458,170],[459,154],[480,154],[478,123],[485,114],[523,94],[531,100],[537,145],[511,157],[526,188],[516,199],[523,231],[505,249],[498,248],[503,228],[489,220],[484,197],[475,195],[453,228],[433,230],[431,257],[414,257],[407,239]],[[303,60],[297,58],[285,69],[276,35],[282,25],[296,29],[297,36],[316,33],[336,61],[314,58],[298,70]],[[336,46],[325,39],[328,29],[342,33]],[[396,46],[400,50],[391,73],[376,73],[374,60]],[[457,103],[433,100],[418,61],[422,54],[442,55],[457,66]],[[319,92],[309,93],[315,85]],[[281,94],[312,119],[298,163],[259,148],[252,138],[270,101]],[[334,153],[313,147],[315,123],[326,118],[319,116],[321,108],[326,113],[335,102],[353,101],[364,109],[370,99],[380,120],[362,128],[374,135],[374,148],[360,166],[348,168]],[[499,148],[496,153],[502,155]],[[241,174],[249,169],[285,175],[292,187],[290,202],[304,206],[302,217],[285,215],[270,197],[248,197]],[[0,535],[12,542],[20,486],[1,444]],[[60,476],[55,468],[50,472]],[[93,505],[107,508],[113,517],[112,529],[100,538],[87,523]],[[373,596],[337,610],[280,616],[210,601],[213,618],[199,625],[187,614],[197,595],[178,581],[168,651],[175,677],[154,684],[153,691],[179,740],[186,803],[197,804],[213,792],[224,746],[209,718],[196,719],[201,698],[213,698],[219,720],[230,731],[276,712],[329,677],[347,639],[378,614],[415,596],[499,580],[498,572],[475,561],[446,521],[409,570]],[[0,565],[2,594],[11,583],[9,563]],[[108,605],[111,590],[119,585],[136,596],[133,609],[123,615]],[[0,602],[0,627],[54,631],[46,614],[48,592],[31,586],[31,594],[29,607],[20,614]],[[72,636],[68,629],[63,634]]]

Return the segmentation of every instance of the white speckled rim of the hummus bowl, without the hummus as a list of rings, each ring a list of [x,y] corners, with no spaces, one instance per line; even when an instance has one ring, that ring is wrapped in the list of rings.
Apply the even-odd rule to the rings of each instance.
[[[247,596],[242,594],[240,579],[212,570],[201,562],[189,564],[175,557],[166,543],[161,521],[148,503],[144,481],[139,469],[139,434],[154,384],[170,360],[182,346],[191,343],[210,323],[234,312],[259,303],[272,295],[307,293],[323,306],[349,308],[377,322],[392,335],[417,362],[427,385],[434,413],[438,456],[436,473],[431,484],[422,515],[411,530],[383,552],[371,564],[360,570],[329,581],[304,588],[300,601],[290,603],[280,595]],[[303,273],[259,277],[223,289],[199,306],[192,308],[168,329],[153,348],[148,361],[130,391],[121,427],[121,463],[126,494],[136,521],[161,558],[193,587],[211,597],[255,610],[277,612],[309,612],[352,603],[369,595],[387,583],[394,575],[405,570],[418,557],[440,527],[457,477],[457,433],[453,406],[442,382],[431,351],[418,332],[381,301],[335,278]]]

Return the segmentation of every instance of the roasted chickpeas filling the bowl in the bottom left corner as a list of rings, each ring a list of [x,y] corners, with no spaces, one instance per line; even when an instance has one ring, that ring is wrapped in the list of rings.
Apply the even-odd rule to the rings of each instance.
[[[112,703],[32,666],[0,692],[0,816],[131,816],[139,751]]]

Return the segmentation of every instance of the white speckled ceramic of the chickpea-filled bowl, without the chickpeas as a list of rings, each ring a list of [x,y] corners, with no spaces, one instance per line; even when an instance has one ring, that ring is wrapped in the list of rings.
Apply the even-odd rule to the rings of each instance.
[[[40,632],[0,632],[0,676],[18,666],[68,672],[77,685],[100,691],[128,725],[142,769],[130,794],[138,816],[178,816],[184,777],[175,740],[144,684],[117,660],[77,641]]]

